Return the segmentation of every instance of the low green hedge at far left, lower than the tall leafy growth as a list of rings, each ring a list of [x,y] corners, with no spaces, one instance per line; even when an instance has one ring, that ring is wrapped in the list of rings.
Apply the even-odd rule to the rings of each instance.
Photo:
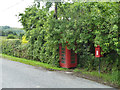
[[[4,54],[29,59],[28,45],[21,44],[19,39],[5,39],[1,43],[1,51]]]

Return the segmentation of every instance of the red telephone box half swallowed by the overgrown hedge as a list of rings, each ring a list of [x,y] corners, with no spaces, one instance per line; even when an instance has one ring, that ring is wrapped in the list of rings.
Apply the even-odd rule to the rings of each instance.
[[[64,68],[72,68],[77,66],[77,54],[73,50],[68,50],[67,46],[59,45],[60,66]]]

